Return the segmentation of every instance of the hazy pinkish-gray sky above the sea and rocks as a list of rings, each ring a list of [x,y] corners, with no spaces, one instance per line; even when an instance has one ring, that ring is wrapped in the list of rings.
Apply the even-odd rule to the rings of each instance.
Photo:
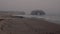
[[[46,13],[60,13],[60,0],[0,0],[0,10],[26,11],[42,9]]]

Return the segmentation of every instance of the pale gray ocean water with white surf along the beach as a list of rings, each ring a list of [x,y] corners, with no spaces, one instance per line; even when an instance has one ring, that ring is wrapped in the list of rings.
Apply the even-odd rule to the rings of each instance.
[[[14,16],[23,16],[26,18],[43,18],[48,22],[60,24],[60,16],[51,16],[51,15],[44,15],[44,16],[39,16],[39,15],[14,15]]]

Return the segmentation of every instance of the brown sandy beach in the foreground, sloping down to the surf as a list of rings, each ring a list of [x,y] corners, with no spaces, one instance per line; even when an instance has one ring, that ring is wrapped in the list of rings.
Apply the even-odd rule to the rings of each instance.
[[[33,18],[0,19],[0,34],[60,34],[60,25]]]

